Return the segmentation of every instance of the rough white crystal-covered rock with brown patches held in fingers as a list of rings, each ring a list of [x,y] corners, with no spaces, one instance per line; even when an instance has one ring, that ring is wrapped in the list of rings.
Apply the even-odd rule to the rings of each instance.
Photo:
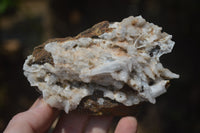
[[[169,79],[179,78],[159,61],[174,46],[172,36],[161,30],[141,16],[103,21],[75,37],[36,47],[24,74],[49,105],[66,113],[155,103]]]

